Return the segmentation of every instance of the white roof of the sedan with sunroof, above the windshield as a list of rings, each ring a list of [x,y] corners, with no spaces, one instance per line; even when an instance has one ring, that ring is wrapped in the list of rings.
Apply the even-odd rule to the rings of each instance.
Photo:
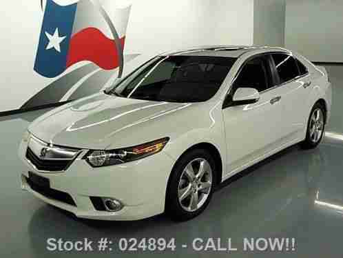
[[[188,48],[186,50],[177,50],[172,52],[165,52],[160,54],[161,56],[169,55],[181,55],[181,56],[198,56],[198,57],[232,57],[238,58],[242,54],[247,52],[289,52],[285,48],[269,47],[269,46],[199,46],[194,48]]]

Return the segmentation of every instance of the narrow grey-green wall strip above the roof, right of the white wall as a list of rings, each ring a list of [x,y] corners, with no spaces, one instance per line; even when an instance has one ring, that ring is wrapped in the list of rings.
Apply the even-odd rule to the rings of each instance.
[[[253,44],[284,46],[285,0],[255,0],[253,12]]]

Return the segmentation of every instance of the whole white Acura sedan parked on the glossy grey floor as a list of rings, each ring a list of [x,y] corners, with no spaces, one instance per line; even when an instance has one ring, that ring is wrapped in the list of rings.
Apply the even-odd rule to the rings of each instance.
[[[187,220],[236,173],[295,143],[318,146],[330,111],[326,70],[284,48],[161,54],[34,121],[21,184],[77,217]]]

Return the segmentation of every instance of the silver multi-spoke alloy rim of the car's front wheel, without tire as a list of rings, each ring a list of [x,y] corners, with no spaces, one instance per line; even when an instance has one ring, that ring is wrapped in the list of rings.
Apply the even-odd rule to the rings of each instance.
[[[187,212],[205,204],[212,188],[212,169],[206,159],[194,159],[183,170],[178,183],[178,201]]]

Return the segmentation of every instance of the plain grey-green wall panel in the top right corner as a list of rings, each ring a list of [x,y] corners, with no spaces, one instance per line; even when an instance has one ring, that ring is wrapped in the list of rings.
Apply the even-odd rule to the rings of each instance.
[[[343,62],[342,13],[342,0],[287,0],[286,47],[311,61]]]

